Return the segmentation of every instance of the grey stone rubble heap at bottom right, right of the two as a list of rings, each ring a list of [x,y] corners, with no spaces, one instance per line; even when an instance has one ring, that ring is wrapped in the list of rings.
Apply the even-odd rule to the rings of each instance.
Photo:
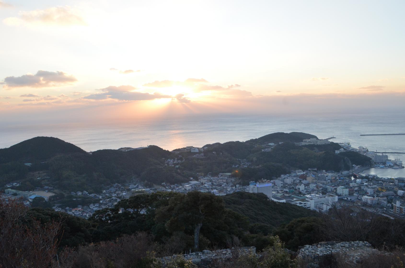
[[[361,258],[379,253],[373,249],[369,242],[320,242],[305,245],[298,250],[298,258],[307,264],[307,267],[328,267],[337,257],[344,259],[347,264],[358,263]]]

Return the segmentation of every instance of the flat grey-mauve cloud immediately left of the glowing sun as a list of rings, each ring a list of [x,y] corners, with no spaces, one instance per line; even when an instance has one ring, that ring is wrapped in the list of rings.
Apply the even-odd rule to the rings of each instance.
[[[130,85],[121,85],[119,87],[109,86],[106,88],[99,89],[103,91],[102,93],[90,94],[87,96],[82,97],[82,99],[87,100],[106,100],[106,99],[114,99],[114,100],[121,100],[121,101],[134,101],[134,100],[154,100],[160,98],[172,98],[168,95],[163,95],[160,93],[143,93],[134,91],[135,87]]]

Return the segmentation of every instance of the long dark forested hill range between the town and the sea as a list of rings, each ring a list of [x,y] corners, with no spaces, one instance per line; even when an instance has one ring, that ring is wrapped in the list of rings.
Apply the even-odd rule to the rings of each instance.
[[[131,151],[104,149],[87,153],[58,138],[36,137],[0,149],[0,187],[17,181],[21,185],[16,189],[22,191],[47,185],[69,193],[83,190],[97,193],[103,185],[134,178],[153,187],[161,183],[184,183],[200,172],[217,175],[236,170],[239,183],[245,185],[252,180],[279,177],[294,168],[341,171],[350,169],[352,164],[371,164],[369,157],[356,152],[335,154],[341,148],[337,143],[294,144],[305,138],[316,136],[277,132],[245,142],[208,144],[203,152],[196,153],[186,149],[170,152],[153,145]],[[166,160],[176,164],[168,165]],[[249,164],[242,166],[242,162]],[[38,177],[46,179],[38,181]]]

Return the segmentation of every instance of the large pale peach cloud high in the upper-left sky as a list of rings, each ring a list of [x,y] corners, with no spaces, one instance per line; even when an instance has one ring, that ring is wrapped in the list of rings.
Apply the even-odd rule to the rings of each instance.
[[[3,20],[7,25],[20,26],[28,24],[48,24],[59,26],[86,25],[76,9],[70,6],[56,6],[49,9],[20,11],[19,17],[9,17]]]

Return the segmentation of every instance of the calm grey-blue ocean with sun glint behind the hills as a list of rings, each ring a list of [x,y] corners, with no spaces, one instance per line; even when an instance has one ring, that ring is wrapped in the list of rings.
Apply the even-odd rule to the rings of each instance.
[[[273,132],[306,132],[348,142],[352,147],[372,151],[405,152],[405,135],[360,136],[360,134],[405,133],[404,114],[350,112],[270,115],[189,115],[158,119],[85,123],[9,124],[0,128],[0,148],[36,136],[53,136],[73,143],[85,151],[157,145],[173,150],[185,146],[202,147],[209,143],[245,141]],[[389,154],[390,159],[405,154]],[[405,161],[404,161],[405,162]],[[404,173],[405,170],[401,169]],[[398,171],[400,174],[401,171]]]

